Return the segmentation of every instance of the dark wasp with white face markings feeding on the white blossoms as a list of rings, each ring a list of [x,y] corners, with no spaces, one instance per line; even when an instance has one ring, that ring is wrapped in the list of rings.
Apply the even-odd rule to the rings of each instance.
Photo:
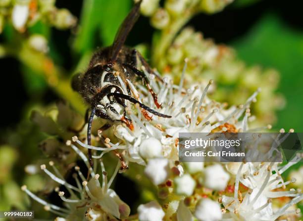
[[[125,116],[126,100],[139,104],[147,119],[151,118],[146,111],[163,118],[171,117],[161,114],[139,102],[131,96],[130,88],[128,87],[127,80],[133,82],[137,77],[142,79],[152,94],[156,107],[161,107],[157,101],[157,95],[149,85],[149,79],[144,72],[139,70],[139,67],[144,66],[146,70],[155,75],[159,81],[162,81],[162,79],[153,72],[147,61],[136,49],[124,46],[129,32],[140,16],[141,2],[142,0],[137,2],[124,19],[113,44],[97,50],[91,58],[87,71],[75,75],[72,79],[72,88],[78,91],[85,101],[91,105],[91,113],[88,114],[87,111],[88,145],[91,145],[92,122],[95,115],[110,121],[121,121],[131,128],[131,121]],[[118,76],[127,86],[127,91],[122,89]],[[108,127],[110,127],[110,125]],[[88,158],[91,166],[93,166],[91,149],[88,150]]]

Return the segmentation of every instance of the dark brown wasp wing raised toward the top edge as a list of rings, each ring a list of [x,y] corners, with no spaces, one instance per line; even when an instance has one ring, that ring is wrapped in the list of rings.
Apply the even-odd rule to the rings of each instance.
[[[123,44],[125,43],[125,40],[129,34],[129,32],[131,31],[134,24],[138,20],[138,18],[140,16],[141,2],[142,2],[142,0],[139,0],[134,5],[134,7],[129,12],[127,17],[124,19],[122,25],[120,26],[120,28],[116,34],[115,40],[109,50],[109,56],[108,56],[109,63],[114,63],[116,61],[119,51],[121,50]]]

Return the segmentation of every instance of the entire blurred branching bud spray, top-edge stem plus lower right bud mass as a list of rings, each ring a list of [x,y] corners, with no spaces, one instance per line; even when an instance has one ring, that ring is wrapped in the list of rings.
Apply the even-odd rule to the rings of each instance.
[[[188,58],[187,81],[214,79],[220,88],[213,90],[212,98],[230,104],[239,104],[258,87],[263,88],[258,103],[251,108],[257,116],[257,124],[276,121],[275,111],[282,109],[284,97],[276,93],[279,74],[262,70],[258,66],[247,67],[235,52],[225,46],[203,39],[202,33],[182,27],[197,13],[215,13],[232,0],[166,0],[163,7],[159,0],[143,0],[141,12],[151,17],[151,24],[158,29],[152,44],[152,64],[161,73],[180,80],[183,60]],[[180,16],[182,15],[182,16]],[[180,34],[178,34],[180,32]]]

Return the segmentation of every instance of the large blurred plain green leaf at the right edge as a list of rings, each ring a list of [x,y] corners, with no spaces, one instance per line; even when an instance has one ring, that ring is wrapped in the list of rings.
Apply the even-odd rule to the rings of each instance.
[[[303,32],[290,28],[276,14],[267,14],[232,45],[248,64],[273,67],[281,73],[278,91],[287,105],[278,112],[276,127],[303,131]]]

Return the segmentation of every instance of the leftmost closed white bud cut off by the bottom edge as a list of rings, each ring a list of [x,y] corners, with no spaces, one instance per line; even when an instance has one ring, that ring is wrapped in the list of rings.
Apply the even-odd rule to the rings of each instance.
[[[147,204],[141,204],[138,207],[139,221],[162,221],[164,212],[161,206],[152,201]]]

